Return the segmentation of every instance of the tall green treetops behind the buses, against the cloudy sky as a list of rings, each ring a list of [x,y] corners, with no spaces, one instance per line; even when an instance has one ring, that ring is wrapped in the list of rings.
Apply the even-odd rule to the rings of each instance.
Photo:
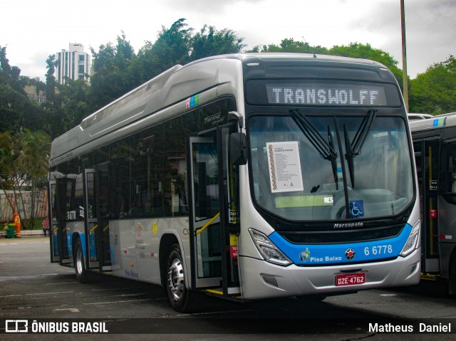
[[[94,74],[90,84],[83,80],[56,82],[56,56],[46,60],[48,72],[46,85],[24,78],[21,70],[11,66],[6,58],[6,48],[0,46],[0,132],[13,132],[28,128],[43,130],[55,138],[81,123],[83,118],[99,110],[113,100],[159,75],[174,65],[225,53],[240,53],[245,48],[244,38],[232,30],[217,30],[204,25],[196,31],[179,19],[169,28],[162,26],[155,42],[146,41],[135,53],[133,46],[122,31],[115,43],[105,43],[98,51],[93,48]],[[402,86],[403,74],[398,61],[389,53],[370,44],[350,43],[348,46],[311,46],[306,41],[284,38],[279,44],[255,46],[246,52],[316,53],[366,58],[387,66]],[[37,105],[28,100],[24,85],[36,85],[37,91],[46,90],[47,102]],[[415,80],[409,80],[411,112],[456,111],[455,105],[455,58],[430,66]]]

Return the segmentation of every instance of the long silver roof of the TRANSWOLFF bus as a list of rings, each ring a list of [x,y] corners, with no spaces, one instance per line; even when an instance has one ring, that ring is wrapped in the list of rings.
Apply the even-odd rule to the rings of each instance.
[[[175,65],[155,78],[84,118],[80,125],[57,137],[51,146],[51,166],[71,157],[74,149],[93,142],[147,115],[227,83],[242,84],[242,65],[284,62],[287,65],[334,65],[341,68],[388,70],[359,58],[312,53],[238,53],[212,56],[184,66]],[[208,71],[210,70],[210,71]],[[393,75],[388,72],[388,80]],[[383,80],[386,80],[384,78]]]

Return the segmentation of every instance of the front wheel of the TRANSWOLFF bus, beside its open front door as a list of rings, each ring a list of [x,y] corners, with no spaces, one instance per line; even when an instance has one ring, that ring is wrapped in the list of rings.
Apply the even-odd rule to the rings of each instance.
[[[170,248],[167,260],[167,281],[166,291],[168,299],[176,311],[180,313],[191,313],[197,307],[197,293],[192,292],[186,287],[184,264],[182,263],[182,253],[178,244]]]

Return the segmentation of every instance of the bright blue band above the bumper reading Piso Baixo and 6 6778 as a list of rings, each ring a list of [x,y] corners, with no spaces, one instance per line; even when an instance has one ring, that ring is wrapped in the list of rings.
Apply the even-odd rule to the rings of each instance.
[[[402,251],[411,231],[412,226],[405,224],[403,231],[394,238],[326,245],[290,243],[277,232],[269,235],[269,239],[296,265],[314,266],[396,258]]]

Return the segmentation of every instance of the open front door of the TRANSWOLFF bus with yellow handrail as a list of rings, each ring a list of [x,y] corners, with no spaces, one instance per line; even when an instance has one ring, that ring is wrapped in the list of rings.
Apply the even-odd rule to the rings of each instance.
[[[214,137],[190,137],[188,158],[192,288],[213,295],[240,293],[237,268],[239,177],[228,157],[235,125]]]

